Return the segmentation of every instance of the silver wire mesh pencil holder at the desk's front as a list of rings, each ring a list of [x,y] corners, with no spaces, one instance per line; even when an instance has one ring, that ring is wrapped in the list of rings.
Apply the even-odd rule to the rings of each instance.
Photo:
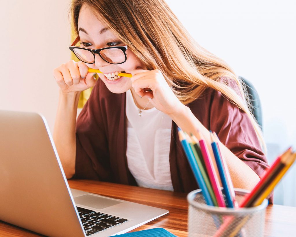
[[[239,203],[247,190],[235,188],[236,200]],[[187,195],[188,236],[215,237],[255,237],[263,236],[265,210],[268,201],[265,199],[259,206],[250,208],[225,208],[208,206],[201,189]]]

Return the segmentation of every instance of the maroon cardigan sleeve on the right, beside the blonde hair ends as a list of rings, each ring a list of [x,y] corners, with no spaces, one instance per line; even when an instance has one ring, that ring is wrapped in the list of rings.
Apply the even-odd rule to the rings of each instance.
[[[210,106],[210,129],[235,156],[244,161],[259,177],[269,167],[258,136],[247,114],[213,92]]]

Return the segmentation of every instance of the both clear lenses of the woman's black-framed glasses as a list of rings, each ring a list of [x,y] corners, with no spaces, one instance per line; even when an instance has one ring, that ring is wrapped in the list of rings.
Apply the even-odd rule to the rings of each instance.
[[[74,52],[80,60],[86,63],[94,63],[94,55],[90,51],[75,48]],[[103,49],[100,51],[100,55],[108,63],[122,63],[126,59],[124,52],[116,48]]]

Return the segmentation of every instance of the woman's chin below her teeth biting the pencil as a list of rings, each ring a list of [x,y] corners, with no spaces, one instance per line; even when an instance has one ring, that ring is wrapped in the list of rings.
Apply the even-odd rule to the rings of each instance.
[[[121,94],[131,89],[131,79],[129,77],[122,76],[119,79],[110,81],[104,74],[100,74],[99,78],[112,93]]]

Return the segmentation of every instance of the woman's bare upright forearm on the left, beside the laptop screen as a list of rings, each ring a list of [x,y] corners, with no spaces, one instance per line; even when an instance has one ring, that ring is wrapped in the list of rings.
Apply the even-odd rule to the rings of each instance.
[[[67,178],[75,173],[75,126],[80,92],[59,93],[53,139]]]

